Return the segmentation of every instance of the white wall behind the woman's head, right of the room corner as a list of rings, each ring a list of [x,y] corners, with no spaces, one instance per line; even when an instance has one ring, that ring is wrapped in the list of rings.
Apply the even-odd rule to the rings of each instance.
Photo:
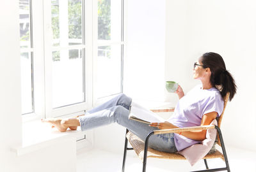
[[[249,0],[166,1],[166,78],[174,78],[188,92],[198,83],[192,79],[193,62],[205,52],[220,54],[237,83],[237,94],[223,117],[225,143],[252,150],[256,150],[255,6]]]

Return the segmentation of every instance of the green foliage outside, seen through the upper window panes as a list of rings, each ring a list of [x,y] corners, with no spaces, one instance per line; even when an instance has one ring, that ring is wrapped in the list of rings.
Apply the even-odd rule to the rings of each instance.
[[[52,0],[52,5],[51,5],[51,24],[52,24],[53,39],[60,39],[59,1],[61,0]],[[26,8],[28,8],[28,6],[26,6]],[[98,39],[109,40],[111,39],[111,0],[98,0],[97,13],[98,13]],[[29,40],[29,29],[27,27],[28,26],[26,25],[26,34],[23,34],[20,37],[20,41]],[[22,28],[22,25],[20,25],[20,28]],[[82,39],[81,0],[68,0],[68,38],[70,39],[68,43],[69,45],[81,44],[81,43],[72,42],[72,39]],[[54,43],[53,46],[60,46],[60,42]],[[69,57],[71,59],[76,59],[79,56],[81,56],[81,54],[77,54],[77,50],[69,52]],[[109,52],[107,56],[109,56]],[[52,61],[60,61],[60,52],[52,52]]]

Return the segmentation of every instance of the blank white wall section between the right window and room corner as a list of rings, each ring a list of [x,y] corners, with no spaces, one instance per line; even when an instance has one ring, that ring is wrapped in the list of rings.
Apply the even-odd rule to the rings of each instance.
[[[165,0],[127,1],[124,92],[133,99],[164,99]]]

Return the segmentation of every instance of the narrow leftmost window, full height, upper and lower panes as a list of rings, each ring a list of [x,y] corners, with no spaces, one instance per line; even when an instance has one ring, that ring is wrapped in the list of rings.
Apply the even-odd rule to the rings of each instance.
[[[31,3],[29,0],[20,0],[19,6],[22,114],[26,114],[34,111]]]

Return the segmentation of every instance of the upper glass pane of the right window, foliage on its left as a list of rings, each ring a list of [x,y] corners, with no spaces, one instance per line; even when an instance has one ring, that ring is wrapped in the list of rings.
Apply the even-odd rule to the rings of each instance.
[[[98,0],[98,39],[121,41],[122,1]]]

